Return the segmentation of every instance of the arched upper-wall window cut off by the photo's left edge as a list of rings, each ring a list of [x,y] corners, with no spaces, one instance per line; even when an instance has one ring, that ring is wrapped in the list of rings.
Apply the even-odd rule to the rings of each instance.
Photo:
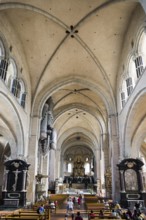
[[[6,80],[8,69],[8,60],[5,58],[5,49],[2,41],[0,40],[0,78]]]

